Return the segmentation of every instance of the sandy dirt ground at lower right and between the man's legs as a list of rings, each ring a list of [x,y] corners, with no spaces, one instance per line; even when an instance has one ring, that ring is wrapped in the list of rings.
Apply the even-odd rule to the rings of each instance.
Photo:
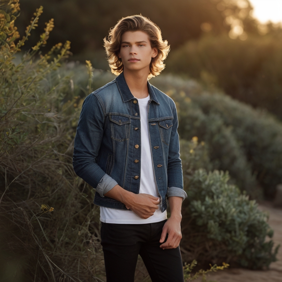
[[[270,203],[264,203],[259,208],[269,214],[268,223],[274,230],[273,241],[275,246],[281,245],[278,251],[278,261],[271,263],[269,270],[247,270],[242,268],[231,268],[207,275],[207,282],[282,282],[282,209],[273,208]],[[136,282],[149,282],[146,268],[140,259],[139,267],[135,272]],[[194,280],[201,282],[202,278]],[[175,281],[177,282],[177,281]]]

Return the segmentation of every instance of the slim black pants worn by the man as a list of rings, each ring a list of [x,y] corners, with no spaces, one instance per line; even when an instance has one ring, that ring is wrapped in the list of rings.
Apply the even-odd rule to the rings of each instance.
[[[161,249],[166,220],[148,224],[101,223],[107,282],[133,282],[138,254],[152,282],[183,282],[179,247]]]

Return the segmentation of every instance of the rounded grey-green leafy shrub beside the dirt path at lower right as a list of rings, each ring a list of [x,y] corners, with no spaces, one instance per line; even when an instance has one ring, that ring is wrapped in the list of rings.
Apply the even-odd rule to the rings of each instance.
[[[276,261],[273,231],[255,201],[228,184],[228,173],[197,170],[185,187],[182,249],[184,260],[224,260],[261,269]]]

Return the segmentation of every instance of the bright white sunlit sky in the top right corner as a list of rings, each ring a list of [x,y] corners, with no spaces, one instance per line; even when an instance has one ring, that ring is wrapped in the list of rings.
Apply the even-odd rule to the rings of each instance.
[[[249,0],[254,7],[253,16],[261,23],[282,22],[282,0]]]

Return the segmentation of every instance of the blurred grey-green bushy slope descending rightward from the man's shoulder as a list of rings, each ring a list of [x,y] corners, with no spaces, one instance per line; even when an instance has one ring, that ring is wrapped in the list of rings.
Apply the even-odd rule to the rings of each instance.
[[[262,198],[263,188],[264,197],[273,199],[282,181],[280,121],[191,79],[167,75],[153,83],[174,99],[180,137],[206,143],[213,169],[228,170],[252,198]]]

